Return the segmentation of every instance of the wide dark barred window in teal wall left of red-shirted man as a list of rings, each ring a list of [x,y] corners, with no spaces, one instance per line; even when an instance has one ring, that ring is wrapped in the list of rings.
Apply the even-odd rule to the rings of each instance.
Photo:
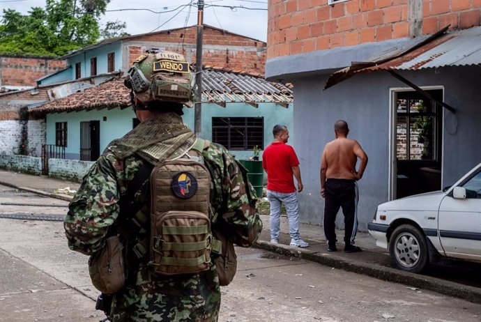
[[[212,141],[229,150],[264,149],[264,117],[213,117]]]

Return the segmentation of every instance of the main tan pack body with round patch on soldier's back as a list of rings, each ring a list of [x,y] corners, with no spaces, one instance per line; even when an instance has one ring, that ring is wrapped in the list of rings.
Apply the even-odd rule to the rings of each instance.
[[[155,273],[199,273],[211,266],[211,177],[190,158],[169,160],[151,175],[151,261]]]

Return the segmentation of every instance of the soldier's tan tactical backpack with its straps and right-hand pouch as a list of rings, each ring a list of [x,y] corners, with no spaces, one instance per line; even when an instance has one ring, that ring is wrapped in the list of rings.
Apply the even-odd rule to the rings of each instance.
[[[155,167],[146,162],[138,171],[125,199],[132,199],[150,176],[151,238],[134,245],[130,254],[137,259],[148,254],[148,266],[160,275],[199,273],[215,263],[220,285],[225,286],[236,274],[237,259],[234,244],[211,222],[211,175],[201,158],[208,144],[197,139],[183,158],[161,161]],[[138,209],[124,213],[135,214],[130,219],[137,227],[145,227],[149,220]]]

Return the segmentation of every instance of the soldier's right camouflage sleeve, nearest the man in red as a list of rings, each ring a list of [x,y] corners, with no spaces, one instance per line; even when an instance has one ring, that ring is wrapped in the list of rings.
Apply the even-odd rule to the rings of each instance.
[[[218,216],[214,229],[229,236],[236,245],[249,247],[259,237],[262,221],[247,171],[218,144],[211,144],[203,155],[213,177],[211,205]]]

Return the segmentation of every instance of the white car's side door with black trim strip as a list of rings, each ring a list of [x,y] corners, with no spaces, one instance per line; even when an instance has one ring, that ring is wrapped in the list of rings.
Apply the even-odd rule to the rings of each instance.
[[[481,260],[481,168],[462,181],[465,199],[452,192],[441,201],[438,229],[446,256]]]

